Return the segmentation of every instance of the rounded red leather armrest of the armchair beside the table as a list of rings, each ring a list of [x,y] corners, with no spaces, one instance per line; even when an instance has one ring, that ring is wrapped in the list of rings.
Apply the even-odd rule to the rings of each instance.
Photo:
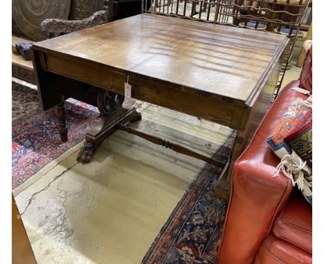
[[[264,116],[249,146],[235,162],[231,198],[219,249],[218,263],[253,263],[262,241],[271,232],[273,221],[291,194],[291,182],[282,174],[276,178],[279,158],[267,145],[282,114],[296,98],[294,81],[282,89]]]

